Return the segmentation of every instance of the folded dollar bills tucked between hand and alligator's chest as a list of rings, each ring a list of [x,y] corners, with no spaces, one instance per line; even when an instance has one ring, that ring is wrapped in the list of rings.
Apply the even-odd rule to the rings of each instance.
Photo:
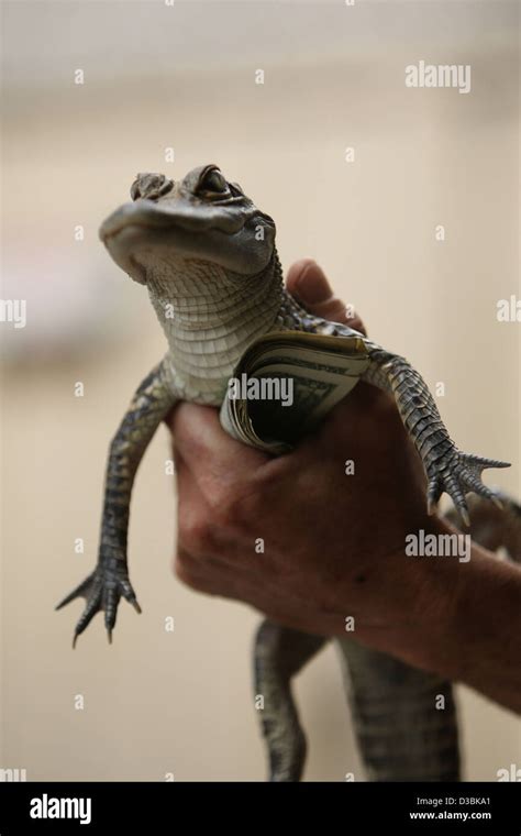
[[[361,337],[273,332],[245,351],[230,378],[221,424],[271,454],[289,451],[344,398],[368,366]]]

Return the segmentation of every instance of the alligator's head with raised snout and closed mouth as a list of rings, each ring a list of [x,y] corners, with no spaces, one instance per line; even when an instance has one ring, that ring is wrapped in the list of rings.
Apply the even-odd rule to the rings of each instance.
[[[193,168],[178,182],[138,174],[131,197],[101,224],[100,238],[135,282],[146,284],[159,262],[175,264],[178,275],[179,262],[193,258],[251,276],[274,255],[274,221],[217,165]]]

